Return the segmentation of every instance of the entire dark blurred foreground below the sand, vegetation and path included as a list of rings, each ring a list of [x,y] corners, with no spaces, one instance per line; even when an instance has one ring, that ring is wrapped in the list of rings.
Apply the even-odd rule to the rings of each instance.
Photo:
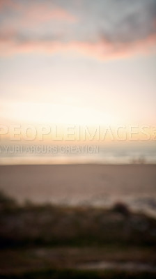
[[[0,197],[1,278],[155,278],[156,220],[125,204],[19,205]]]

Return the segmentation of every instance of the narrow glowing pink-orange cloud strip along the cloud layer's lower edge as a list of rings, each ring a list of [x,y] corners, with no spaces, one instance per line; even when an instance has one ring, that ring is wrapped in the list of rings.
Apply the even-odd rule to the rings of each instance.
[[[12,34],[13,35],[13,34]],[[9,34],[10,36],[10,34]],[[137,53],[146,54],[154,49],[156,43],[156,35],[148,36],[144,40],[138,40],[133,43],[120,43],[118,45],[110,43],[108,40],[99,40],[95,43],[70,41],[63,43],[61,41],[46,41],[46,40],[28,40],[18,43],[13,38],[3,36],[0,40],[1,55],[13,55],[20,53],[45,53],[56,54],[75,53],[91,56],[95,59],[116,59],[126,56],[132,56]]]

